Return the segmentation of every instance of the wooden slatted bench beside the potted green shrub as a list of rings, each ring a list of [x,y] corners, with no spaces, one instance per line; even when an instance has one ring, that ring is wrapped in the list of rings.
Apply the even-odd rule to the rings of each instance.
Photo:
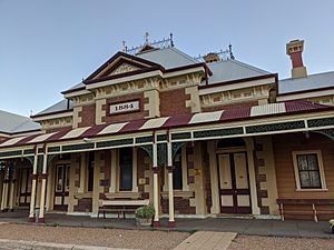
[[[99,204],[98,218],[100,213],[106,219],[106,213],[117,212],[118,218],[122,214],[125,219],[127,212],[135,212],[137,208],[148,204],[149,200],[102,200]]]

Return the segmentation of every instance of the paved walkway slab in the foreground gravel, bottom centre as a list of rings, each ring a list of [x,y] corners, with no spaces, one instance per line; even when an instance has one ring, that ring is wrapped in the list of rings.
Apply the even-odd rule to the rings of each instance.
[[[235,232],[199,231],[191,234],[174,250],[226,250],[235,237]]]

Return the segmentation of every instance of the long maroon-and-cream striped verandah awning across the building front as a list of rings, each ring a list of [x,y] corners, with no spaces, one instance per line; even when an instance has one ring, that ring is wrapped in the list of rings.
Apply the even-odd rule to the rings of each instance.
[[[0,144],[0,148],[11,148],[24,144],[37,144],[47,142],[58,142],[66,140],[95,138],[101,136],[112,136],[149,130],[164,130],[171,128],[191,127],[207,123],[224,123],[229,121],[244,121],[264,117],[278,117],[303,112],[334,110],[334,107],[312,103],[307,101],[288,101],[269,103],[239,109],[219,110],[214,112],[202,112],[195,114],[178,114],[173,117],[161,117],[154,119],[143,119],[120,123],[100,124],[77,129],[66,129],[45,134],[17,137]]]

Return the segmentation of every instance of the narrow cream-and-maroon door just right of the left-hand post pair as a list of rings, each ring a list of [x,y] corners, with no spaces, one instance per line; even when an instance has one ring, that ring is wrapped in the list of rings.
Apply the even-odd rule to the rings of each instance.
[[[53,210],[67,211],[70,164],[56,166]]]

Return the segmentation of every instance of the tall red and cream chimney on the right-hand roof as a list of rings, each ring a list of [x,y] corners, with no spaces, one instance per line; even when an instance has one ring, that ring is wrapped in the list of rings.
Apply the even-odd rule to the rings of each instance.
[[[303,64],[303,50],[304,40],[293,40],[286,43],[286,54],[289,56],[293,67],[291,70],[293,79],[307,77],[306,67]]]

